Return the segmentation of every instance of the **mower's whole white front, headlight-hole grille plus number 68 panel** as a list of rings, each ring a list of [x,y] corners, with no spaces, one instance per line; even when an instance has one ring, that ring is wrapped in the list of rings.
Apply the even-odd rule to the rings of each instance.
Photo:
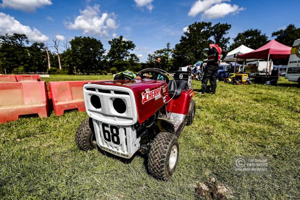
[[[114,155],[132,157],[140,147],[134,128],[137,111],[133,91],[127,87],[88,83],[83,85],[83,96],[86,113],[93,120],[97,145]],[[92,102],[92,96],[99,102]],[[124,103],[121,113],[113,104],[116,98]]]

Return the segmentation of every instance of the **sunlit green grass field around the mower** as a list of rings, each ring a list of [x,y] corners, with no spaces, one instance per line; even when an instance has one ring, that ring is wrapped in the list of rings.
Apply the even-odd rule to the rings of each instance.
[[[50,75],[43,80],[109,79]],[[235,199],[300,199],[300,88],[218,82],[199,94],[196,113],[179,137],[171,181],[147,174],[144,157],[123,162],[97,150],[81,151],[74,134],[85,112],[21,118],[0,124],[0,199],[194,199],[195,181],[214,177]],[[235,175],[232,157],[270,158],[269,174]]]

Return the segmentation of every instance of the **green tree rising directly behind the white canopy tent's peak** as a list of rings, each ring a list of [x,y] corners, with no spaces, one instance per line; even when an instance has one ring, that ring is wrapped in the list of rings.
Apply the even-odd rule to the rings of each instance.
[[[241,44],[249,48],[257,49],[266,44],[266,42],[267,36],[265,33],[261,33],[261,30],[248,29],[237,34],[237,36],[233,39],[233,43],[230,45],[229,50],[233,50]]]

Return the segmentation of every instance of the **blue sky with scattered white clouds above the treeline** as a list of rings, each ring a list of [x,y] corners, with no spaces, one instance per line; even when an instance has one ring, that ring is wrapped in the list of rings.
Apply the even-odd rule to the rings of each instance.
[[[270,37],[290,23],[300,27],[300,0],[0,0],[0,34],[26,33],[31,41],[52,44],[93,36],[109,49],[108,40],[123,35],[147,54],[173,47],[184,27],[194,21],[231,24],[228,36],[258,28]],[[62,43],[63,41],[61,41]],[[61,46],[61,49],[63,47]]]

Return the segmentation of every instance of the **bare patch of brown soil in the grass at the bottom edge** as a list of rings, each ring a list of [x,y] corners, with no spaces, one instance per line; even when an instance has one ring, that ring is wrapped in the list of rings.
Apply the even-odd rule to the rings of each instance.
[[[197,181],[193,186],[195,188],[196,199],[203,199],[203,197],[206,200],[225,200],[234,198],[231,195],[232,191],[213,177],[206,180],[205,183]]]

